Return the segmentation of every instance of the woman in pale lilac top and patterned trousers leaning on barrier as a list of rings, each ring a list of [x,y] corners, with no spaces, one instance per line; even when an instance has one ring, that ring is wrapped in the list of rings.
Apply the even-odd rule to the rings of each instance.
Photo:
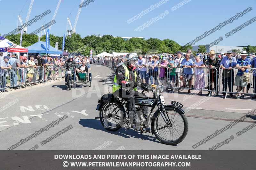
[[[196,62],[192,66],[192,68],[195,68],[195,77],[196,77],[194,88],[196,89],[196,91],[199,91],[199,93],[197,93],[196,95],[201,95],[202,94],[202,89],[205,86],[205,83],[204,83],[204,68],[205,68],[205,65],[200,60],[200,56],[197,55],[195,57],[195,60],[196,60]]]

